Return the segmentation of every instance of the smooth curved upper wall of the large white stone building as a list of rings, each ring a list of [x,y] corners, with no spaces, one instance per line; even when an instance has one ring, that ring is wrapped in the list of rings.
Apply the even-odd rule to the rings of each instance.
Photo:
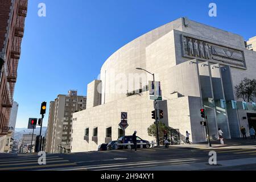
[[[146,47],[174,29],[182,29],[181,18],[140,36],[120,48],[106,60],[101,68],[102,104],[119,100],[120,98],[126,97],[127,90],[133,91],[133,89],[139,89],[139,86],[144,86],[137,84],[134,88],[129,87],[128,82],[131,81],[128,80],[129,74],[137,73],[138,75],[142,74],[144,76],[144,72],[138,71],[135,68],[140,67],[146,69]],[[152,80],[151,75],[147,74],[147,76],[148,79]]]

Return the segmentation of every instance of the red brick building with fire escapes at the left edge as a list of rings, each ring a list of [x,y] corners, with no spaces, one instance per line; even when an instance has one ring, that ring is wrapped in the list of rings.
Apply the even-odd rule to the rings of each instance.
[[[27,3],[27,0],[0,0],[0,143],[6,143],[9,132]]]

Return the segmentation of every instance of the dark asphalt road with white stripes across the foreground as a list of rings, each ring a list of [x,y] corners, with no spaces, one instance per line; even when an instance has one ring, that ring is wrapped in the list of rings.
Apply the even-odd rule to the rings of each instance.
[[[209,151],[217,152],[216,166],[210,166]],[[236,149],[192,149],[184,147],[47,154],[46,165],[39,165],[37,155],[0,154],[2,170],[256,170],[256,147]]]

